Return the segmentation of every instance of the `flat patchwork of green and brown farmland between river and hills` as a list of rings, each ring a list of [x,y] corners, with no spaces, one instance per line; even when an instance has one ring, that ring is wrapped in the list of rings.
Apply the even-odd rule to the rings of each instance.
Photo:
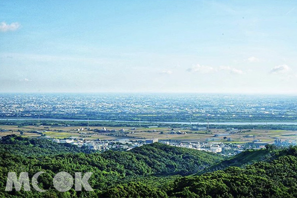
[[[77,131],[78,129],[85,128],[84,131]],[[279,138],[282,141],[289,140],[289,142],[297,141],[297,132],[292,130],[241,130],[238,133],[230,134],[225,139],[222,136],[215,137],[215,135],[226,132],[224,129],[211,129],[211,132],[205,131],[192,131],[186,128],[136,128],[131,127],[110,127],[107,126],[106,132],[96,132],[101,127],[90,127],[90,130],[86,130],[85,126],[43,126],[43,125],[29,125],[29,126],[6,126],[1,125],[0,129],[4,132],[0,132],[0,136],[16,134],[19,135],[23,132],[24,137],[38,137],[40,134],[29,133],[30,131],[39,131],[42,134],[49,136],[53,139],[64,139],[69,137],[81,137],[86,140],[101,139],[101,140],[119,140],[128,138],[131,140],[145,140],[151,138],[157,138],[164,141],[176,141],[176,142],[223,142],[232,144],[245,144],[253,141],[259,143],[273,143],[275,138]],[[111,132],[115,130],[115,132]],[[123,131],[122,131],[123,130]],[[174,130],[175,132],[187,132],[187,134],[170,134]],[[161,133],[162,132],[162,133]],[[90,136],[90,137],[89,137]],[[231,141],[227,141],[227,138],[231,138]],[[214,140],[212,140],[214,139]]]

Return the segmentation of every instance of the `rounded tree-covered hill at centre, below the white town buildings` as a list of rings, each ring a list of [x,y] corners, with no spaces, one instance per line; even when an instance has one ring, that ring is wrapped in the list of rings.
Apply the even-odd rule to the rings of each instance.
[[[140,156],[158,175],[189,175],[224,159],[223,156],[189,148],[154,143],[131,150]]]

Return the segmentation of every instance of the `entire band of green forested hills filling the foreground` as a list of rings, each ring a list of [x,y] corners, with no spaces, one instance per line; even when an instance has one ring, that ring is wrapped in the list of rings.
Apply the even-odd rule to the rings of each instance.
[[[48,140],[3,138],[0,197],[297,197],[297,147],[250,150],[230,159],[158,143],[104,153],[72,147]],[[207,173],[191,176],[205,167]],[[8,172],[28,172],[31,178],[39,171],[46,172],[39,177],[39,186],[46,192],[4,191]],[[79,192],[74,187],[65,193],[56,191],[52,179],[60,171],[92,172],[89,183],[94,191]]]

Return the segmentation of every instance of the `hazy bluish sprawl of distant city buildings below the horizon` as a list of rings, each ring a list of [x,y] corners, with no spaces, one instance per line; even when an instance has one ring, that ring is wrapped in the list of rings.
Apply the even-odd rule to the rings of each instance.
[[[0,118],[177,122],[291,122],[295,96],[0,94]]]

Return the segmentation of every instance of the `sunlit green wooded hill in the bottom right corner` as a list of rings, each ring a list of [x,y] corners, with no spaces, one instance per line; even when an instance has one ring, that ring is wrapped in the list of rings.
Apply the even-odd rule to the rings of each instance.
[[[245,168],[229,167],[200,176],[175,180],[167,190],[170,197],[192,198],[295,198],[297,197],[297,147]]]

